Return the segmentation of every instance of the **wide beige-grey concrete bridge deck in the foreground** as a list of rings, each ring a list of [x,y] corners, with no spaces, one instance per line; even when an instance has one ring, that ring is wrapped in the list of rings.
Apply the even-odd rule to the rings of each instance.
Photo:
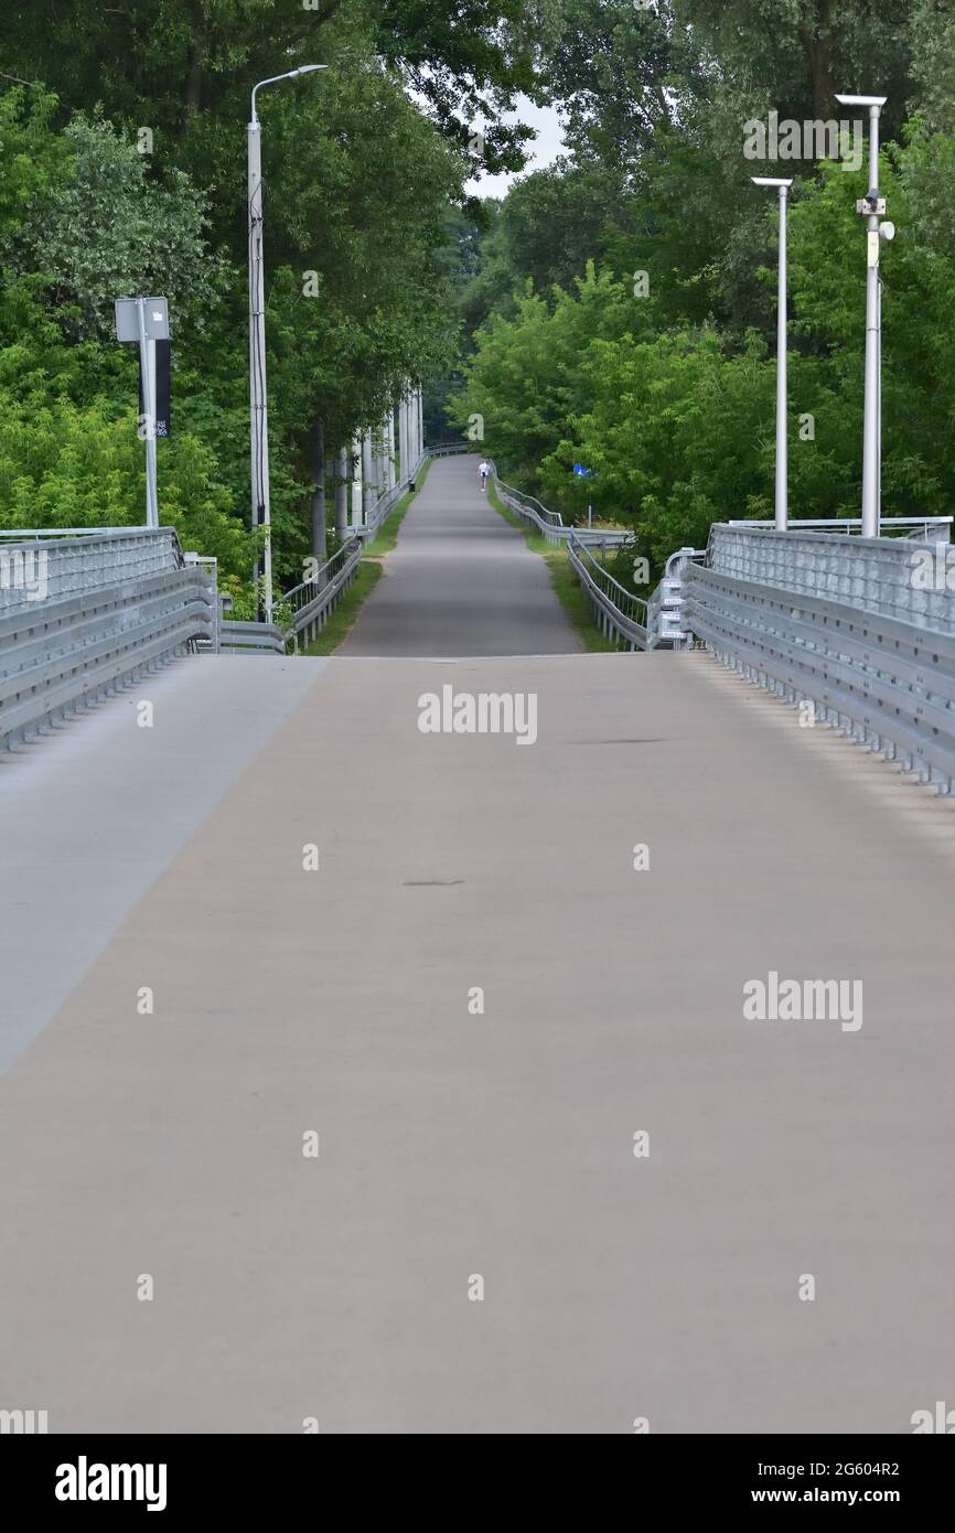
[[[422,734],[448,682],[537,693],[537,744]],[[0,842],[0,1406],[906,1432],[950,1397],[955,822],[708,658],[181,662],[3,763]],[[770,970],[861,980],[863,1026],[747,1021]]]

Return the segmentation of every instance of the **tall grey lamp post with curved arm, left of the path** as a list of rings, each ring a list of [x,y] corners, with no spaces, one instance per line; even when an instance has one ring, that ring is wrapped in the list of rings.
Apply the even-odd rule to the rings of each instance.
[[[248,123],[248,396],[251,425],[251,523],[265,527],[265,621],[271,622],[271,512],[268,503],[268,403],[265,394],[265,271],[262,259],[262,124],[256,115],[256,92],[277,80],[328,69],[328,64],[300,64],[284,75],[259,80],[251,92]],[[254,569],[256,590],[259,566]]]

